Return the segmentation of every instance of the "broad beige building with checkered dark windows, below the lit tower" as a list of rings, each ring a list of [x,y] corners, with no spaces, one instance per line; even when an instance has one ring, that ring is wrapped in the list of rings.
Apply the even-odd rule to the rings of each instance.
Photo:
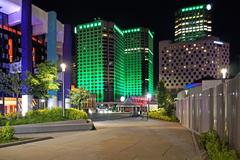
[[[219,38],[159,42],[159,79],[169,89],[181,89],[204,77],[221,78],[222,68],[229,69],[229,44]]]

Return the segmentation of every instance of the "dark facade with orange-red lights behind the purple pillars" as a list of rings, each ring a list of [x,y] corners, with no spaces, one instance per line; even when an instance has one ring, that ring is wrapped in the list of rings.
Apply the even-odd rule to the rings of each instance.
[[[45,35],[32,36],[32,46],[33,68],[35,68],[37,64],[46,60]],[[21,61],[21,53],[20,25],[10,27],[8,15],[0,12],[0,69],[9,72],[11,67],[16,66],[20,71],[21,64],[17,62]]]

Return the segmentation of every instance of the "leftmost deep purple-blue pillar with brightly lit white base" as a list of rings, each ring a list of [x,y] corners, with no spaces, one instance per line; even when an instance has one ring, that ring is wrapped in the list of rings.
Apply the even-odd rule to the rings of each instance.
[[[27,72],[32,72],[32,1],[22,0],[21,47],[22,47],[22,81],[27,78]],[[32,96],[28,95],[28,86],[22,85],[22,114],[31,108]]]

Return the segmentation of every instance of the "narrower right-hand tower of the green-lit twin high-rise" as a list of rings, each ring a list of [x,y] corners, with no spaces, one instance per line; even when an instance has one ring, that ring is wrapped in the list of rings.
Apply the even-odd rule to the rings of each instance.
[[[125,37],[125,95],[153,93],[153,34],[147,28],[123,31]]]

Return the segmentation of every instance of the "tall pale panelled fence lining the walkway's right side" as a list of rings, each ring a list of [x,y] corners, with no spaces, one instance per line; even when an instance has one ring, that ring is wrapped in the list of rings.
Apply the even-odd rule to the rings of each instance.
[[[180,123],[198,133],[214,129],[240,150],[240,74],[206,90],[184,91],[176,102]]]

